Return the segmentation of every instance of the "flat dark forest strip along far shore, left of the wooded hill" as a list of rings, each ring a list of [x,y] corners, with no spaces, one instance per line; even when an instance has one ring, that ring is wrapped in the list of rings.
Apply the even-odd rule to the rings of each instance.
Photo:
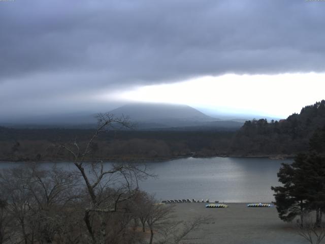
[[[85,146],[93,130],[0,128],[0,159],[8,161],[70,160],[51,145]],[[166,160],[224,155],[233,131],[109,131],[91,144],[89,160]]]

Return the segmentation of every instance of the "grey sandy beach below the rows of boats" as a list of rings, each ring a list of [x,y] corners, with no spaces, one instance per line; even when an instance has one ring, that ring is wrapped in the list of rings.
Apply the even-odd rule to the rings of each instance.
[[[213,218],[192,234],[201,239],[188,240],[186,243],[308,243],[298,235],[294,224],[284,223],[278,218],[275,207],[246,207],[245,203],[228,203],[228,208],[206,208],[205,204],[175,204],[177,219]]]

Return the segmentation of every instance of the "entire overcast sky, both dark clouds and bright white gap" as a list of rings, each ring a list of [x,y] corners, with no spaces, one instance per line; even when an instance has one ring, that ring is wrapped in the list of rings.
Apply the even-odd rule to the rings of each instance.
[[[324,13],[304,0],[0,1],[0,114],[150,101],[284,117],[323,99]]]

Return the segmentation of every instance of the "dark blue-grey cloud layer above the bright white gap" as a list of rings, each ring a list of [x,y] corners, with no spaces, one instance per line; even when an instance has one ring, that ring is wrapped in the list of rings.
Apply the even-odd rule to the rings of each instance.
[[[13,92],[55,101],[200,75],[324,72],[324,12],[304,0],[3,1],[0,104]]]

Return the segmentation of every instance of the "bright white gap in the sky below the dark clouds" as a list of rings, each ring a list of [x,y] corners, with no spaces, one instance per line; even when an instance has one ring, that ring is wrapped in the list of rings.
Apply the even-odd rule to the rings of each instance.
[[[287,117],[324,99],[325,74],[205,76],[113,94],[126,102],[187,104],[220,113]],[[112,98],[112,97],[111,97]]]

